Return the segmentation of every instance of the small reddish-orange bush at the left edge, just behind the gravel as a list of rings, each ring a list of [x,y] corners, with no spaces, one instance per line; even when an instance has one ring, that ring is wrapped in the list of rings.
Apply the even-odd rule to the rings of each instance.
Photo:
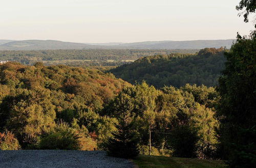
[[[6,133],[0,132],[0,150],[18,150],[18,140],[14,137],[14,134],[7,131]]]

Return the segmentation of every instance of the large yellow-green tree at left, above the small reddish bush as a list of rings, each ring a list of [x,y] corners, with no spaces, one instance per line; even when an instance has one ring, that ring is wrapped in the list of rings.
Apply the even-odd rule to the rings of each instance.
[[[50,92],[42,88],[6,97],[1,104],[5,127],[20,132],[17,137],[23,139],[22,143],[35,143],[39,134],[55,125],[50,100]]]

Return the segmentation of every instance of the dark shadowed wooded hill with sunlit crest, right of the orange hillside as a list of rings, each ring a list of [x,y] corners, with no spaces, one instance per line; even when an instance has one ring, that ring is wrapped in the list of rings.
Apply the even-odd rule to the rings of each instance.
[[[143,57],[109,72],[130,83],[145,80],[156,88],[190,85],[216,86],[226,61],[225,48],[205,48],[197,54],[172,53]]]

